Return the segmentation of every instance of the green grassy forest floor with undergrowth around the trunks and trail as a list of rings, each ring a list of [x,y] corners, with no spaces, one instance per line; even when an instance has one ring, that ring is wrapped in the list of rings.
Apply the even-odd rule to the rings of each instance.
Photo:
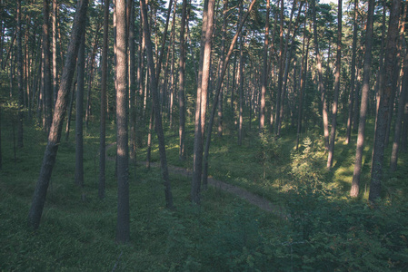
[[[164,209],[159,168],[130,167],[131,243],[118,245],[114,242],[114,160],[107,160],[106,198],[97,198],[96,125],[85,133],[84,189],[74,183],[74,132],[69,141],[62,141],[36,233],[26,227],[26,218],[45,151],[45,133],[26,126],[25,147],[14,152],[11,124],[3,128],[1,271],[408,269],[406,154],[397,172],[385,173],[383,201],[373,209],[366,201],[370,145],[366,145],[363,160],[361,197],[349,199],[353,142],[345,145],[339,138],[333,170],[327,171],[323,141],[317,132],[303,135],[299,151],[294,149],[295,134],[289,129],[279,140],[268,134],[258,136],[255,129],[246,131],[242,146],[228,132],[223,138],[214,135],[209,161],[214,180],[282,207],[290,215],[282,217],[216,187],[203,192],[201,206],[192,206],[187,170],[192,169],[194,135],[188,133],[188,157],[180,161],[176,132],[166,131],[168,162],[173,169],[185,170],[182,174],[172,171],[170,176],[176,209]],[[114,126],[108,130],[106,142],[113,144]],[[114,150],[107,151],[109,158],[114,157]],[[145,151],[138,150],[138,161],[144,160]],[[152,161],[157,163],[155,137],[152,151]]]

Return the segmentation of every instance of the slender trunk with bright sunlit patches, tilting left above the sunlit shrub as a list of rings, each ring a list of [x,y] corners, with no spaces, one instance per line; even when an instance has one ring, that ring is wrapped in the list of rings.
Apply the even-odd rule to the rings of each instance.
[[[313,9],[314,48],[316,52],[317,73],[319,77],[320,100],[322,102],[324,147],[326,148],[326,150],[328,150],[329,149],[329,117],[327,114],[326,91],[324,89],[324,84],[323,84],[322,59],[321,59],[320,52],[319,52],[319,41],[317,40],[316,2],[315,0],[312,0],[312,9]]]

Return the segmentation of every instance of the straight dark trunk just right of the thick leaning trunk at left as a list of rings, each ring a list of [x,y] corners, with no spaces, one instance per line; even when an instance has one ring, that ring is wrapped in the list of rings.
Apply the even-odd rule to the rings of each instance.
[[[75,183],[84,187],[84,88],[85,88],[85,32],[81,38],[77,64],[75,114]]]

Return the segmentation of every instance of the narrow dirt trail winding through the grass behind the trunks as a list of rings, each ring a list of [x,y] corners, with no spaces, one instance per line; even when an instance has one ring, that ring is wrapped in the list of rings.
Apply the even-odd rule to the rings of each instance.
[[[107,145],[106,151],[109,148],[112,148],[114,144],[115,142]],[[114,158],[106,155],[106,160],[114,160]],[[142,162],[140,163],[140,165],[142,165]],[[150,166],[154,168],[160,168],[160,163],[150,162]],[[187,178],[192,177],[192,174],[193,174],[192,170],[186,170],[184,168],[177,167],[174,165],[167,165],[167,167],[168,167],[169,172],[174,175],[180,175],[180,176],[187,177]],[[284,219],[288,218],[288,215],[284,212],[284,209],[282,209],[282,207],[278,207],[274,205],[274,203],[272,203],[268,199],[264,199],[258,195],[255,195],[254,193],[249,192],[246,189],[234,186],[232,184],[228,184],[221,180],[215,180],[214,178],[211,178],[211,177],[208,177],[208,185],[216,189],[221,189],[228,193],[231,193],[241,199],[248,201],[249,203],[253,204],[254,206],[257,206],[258,208],[263,209],[264,211],[273,213],[276,216],[279,216]]]

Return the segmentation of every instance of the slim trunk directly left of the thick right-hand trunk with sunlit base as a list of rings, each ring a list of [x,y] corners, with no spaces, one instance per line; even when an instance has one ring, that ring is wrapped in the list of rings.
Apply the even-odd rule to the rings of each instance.
[[[350,79],[350,102],[347,118],[347,132],[345,143],[349,144],[352,138],[352,126],[353,126],[353,108],[354,108],[354,92],[355,90],[355,57],[357,53],[357,18],[358,18],[358,0],[354,0],[354,17],[353,17],[353,45],[352,45],[352,67],[351,67],[351,79]],[[355,101],[355,103],[357,103]]]

